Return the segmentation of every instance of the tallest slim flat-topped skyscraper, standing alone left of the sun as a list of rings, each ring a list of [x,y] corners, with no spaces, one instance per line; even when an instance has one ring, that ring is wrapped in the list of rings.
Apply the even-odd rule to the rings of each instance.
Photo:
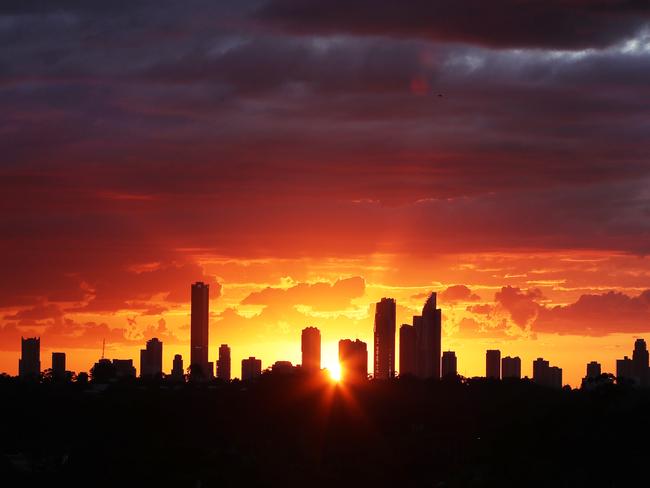
[[[210,285],[198,281],[192,284],[192,318],[190,369],[197,378],[207,378],[208,330],[210,309]]]

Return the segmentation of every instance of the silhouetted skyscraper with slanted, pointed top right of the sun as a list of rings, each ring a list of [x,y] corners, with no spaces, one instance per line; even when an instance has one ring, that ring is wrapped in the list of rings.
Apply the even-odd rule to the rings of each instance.
[[[431,293],[422,308],[422,315],[413,317],[417,333],[417,363],[420,378],[440,378],[442,349],[442,311],[436,304],[437,295]]]

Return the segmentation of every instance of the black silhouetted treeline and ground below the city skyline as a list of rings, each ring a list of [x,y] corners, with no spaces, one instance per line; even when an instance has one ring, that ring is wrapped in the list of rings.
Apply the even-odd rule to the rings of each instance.
[[[650,391],[0,380],[2,486],[647,486]]]

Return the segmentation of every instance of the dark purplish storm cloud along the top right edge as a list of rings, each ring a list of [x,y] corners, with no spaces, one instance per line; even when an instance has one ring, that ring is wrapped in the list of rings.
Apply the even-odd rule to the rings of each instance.
[[[258,19],[305,35],[423,38],[490,47],[604,47],[647,26],[643,0],[270,0]]]

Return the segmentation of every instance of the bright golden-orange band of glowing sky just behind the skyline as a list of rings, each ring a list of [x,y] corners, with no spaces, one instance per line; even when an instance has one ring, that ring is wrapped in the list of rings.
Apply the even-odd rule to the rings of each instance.
[[[214,283],[209,359],[216,361],[225,343],[232,349],[233,377],[248,356],[261,358],[263,368],[278,360],[299,364],[300,331],[314,326],[322,334],[322,366],[336,377],[340,339],[358,338],[372,350],[374,303],[396,299],[399,330],[420,313],[426,294],[436,291],[442,348],[456,352],[461,375],[484,375],[485,350],[496,348],[502,356],[520,356],[524,376],[532,375],[532,361],[541,356],[563,368],[565,383],[578,386],[589,361],[614,372],[616,359],[630,355],[634,339],[643,337],[647,316],[635,310],[645,303],[647,265],[648,258],[606,253],[206,260],[203,272]],[[145,280],[159,267],[134,269]],[[35,318],[19,316],[15,326],[5,318],[0,370],[16,374],[21,335],[41,336],[43,369],[52,351],[65,351],[69,369],[88,371],[104,338],[107,357],[133,358],[138,368],[139,350],[151,337],[164,343],[164,371],[174,354],[182,354],[187,366],[189,282],[173,281],[169,288],[178,288],[179,301],[158,293],[122,302],[117,310],[86,310],[86,302],[78,302],[58,305],[60,316],[54,318],[46,316],[45,306],[34,309]],[[5,309],[2,315],[20,312]],[[399,337],[396,342],[399,364]],[[372,371],[372,354],[368,360]]]

